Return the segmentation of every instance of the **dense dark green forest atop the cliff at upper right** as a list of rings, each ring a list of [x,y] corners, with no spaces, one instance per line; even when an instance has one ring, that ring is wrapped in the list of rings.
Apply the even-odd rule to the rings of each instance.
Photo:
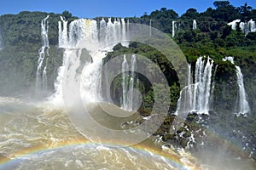
[[[174,40],[189,57],[203,54],[218,57],[230,54],[229,51],[234,48],[255,47],[256,32],[245,36],[241,30],[233,31],[227,24],[236,19],[241,19],[243,22],[256,20],[256,9],[248,6],[247,3],[236,8],[228,1],[215,2],[214,6],[215,9],[207,8],[203,13],[198,13],[195,8],[189,8],[180,17],[177,17],[172,9],[161,8],[149,15],[144,14],[141,18],[129,18],[129,20],[146,25],[152,20],[152,26],[169,35],[172,33],[172,20],[175,20],[177,29]],[[195,30],[192,30],[193,20],[197,22]]]

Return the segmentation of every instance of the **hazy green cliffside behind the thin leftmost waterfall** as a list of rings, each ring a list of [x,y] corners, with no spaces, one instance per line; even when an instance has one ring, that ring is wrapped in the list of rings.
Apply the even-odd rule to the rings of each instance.
[[[42,46],[41,20],[49,15],[49,89],[62,63],[62,50],[58,45],[58,20],[60,16],[74,20],[72,14],[20,12],[0,16],[0,34],[3,49],[0,50],[0,95],[33,94],[37,71],[38,50]]]

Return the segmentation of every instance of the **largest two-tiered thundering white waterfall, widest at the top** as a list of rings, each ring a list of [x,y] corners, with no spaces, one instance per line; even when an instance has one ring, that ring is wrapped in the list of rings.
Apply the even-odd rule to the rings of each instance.
[[[91,103],[102,100],[101,82],[99,82],[102,77],[102,59],[109,51],[113,50],[118,42],[129,45],[128,42],[125,42],[127,30],[123,19],[111,20],[109,18],[108,22],[102,19],[99,23],[96,20],[73,20],[67,29],[67,21],[61,18],[59,21],[59,46],[65,48],[65,52],[63,64],[55,82],[53,99],[56,104],[61,105],[63,85],[78,82],[78,75],[81,77],[79,88],[83,101]],[[81,63],[82,60],[84,63]],[[64,76],[68,77],[66,80],[68,83],[63,82]],[[78,90],[70,88],[71,92]]]

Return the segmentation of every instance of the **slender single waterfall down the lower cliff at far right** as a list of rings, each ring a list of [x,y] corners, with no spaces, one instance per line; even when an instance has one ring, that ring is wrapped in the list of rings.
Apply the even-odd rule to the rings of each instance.
[[[224,61],[229,60],[233,65],[235,65],[234,58],[233,57],[225,57],[223,59]],[[238,86],[238,95],[236,99],[236,115],[240,116],[247,116],[247,113],[250,111],[250,106],[247,102],[247,94],[246,90],[244,88],[243,83],[243,75],[241,73],[241,68],[237,65],[236,66],[236,77],[237,77],[237,86]]]

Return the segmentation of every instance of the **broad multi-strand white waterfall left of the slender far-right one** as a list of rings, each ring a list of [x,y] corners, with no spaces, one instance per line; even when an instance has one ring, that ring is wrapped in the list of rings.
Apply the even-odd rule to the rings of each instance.
[[[213,60],[209,57],[204,59],[199,57],[195,64],[195,77],[192,83],[191,65],[188,65],[187,86],[181,90],[177,101],[177,111],[175,114],[184,112],[198,112],[208,114],[211,108],[212,89],[212,66]]]

